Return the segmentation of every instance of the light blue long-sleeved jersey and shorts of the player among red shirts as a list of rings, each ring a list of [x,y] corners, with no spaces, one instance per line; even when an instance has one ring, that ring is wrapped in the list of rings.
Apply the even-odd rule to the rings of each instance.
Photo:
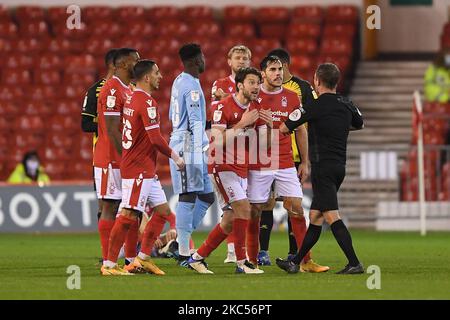
[[[207,170],[206,102],[199,79],[182,72],[174,80],[169,117],[170,147],[184,158],[186,169],[178,171],[170,160],[174,193],[212,192]]]

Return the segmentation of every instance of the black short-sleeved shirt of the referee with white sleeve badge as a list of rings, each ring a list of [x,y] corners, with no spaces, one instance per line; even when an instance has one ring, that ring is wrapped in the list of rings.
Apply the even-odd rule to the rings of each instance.
[[[333,93],[322,94],[292,112],[285,125],[293,131],[305,122],[311,164],[331,160],[345,165],[348,133],[364,127],[359,109],[348,98]]]

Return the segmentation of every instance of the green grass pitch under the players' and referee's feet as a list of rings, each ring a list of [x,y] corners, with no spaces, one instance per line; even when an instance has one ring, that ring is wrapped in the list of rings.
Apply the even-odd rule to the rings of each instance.
[[[0,299],[450,299],[450,233],[377,233],[353,231],[353,243],[365,267],[381,269],[381,289],[369,290],[371,274],[334,274],[346,260],[331,232],[325,232],[313,257],[332,270],[288,275],[264,267],[263,275],[236,275],[223,264],[225,245],[207,260],[215,275],[177,267],[157,259],[164,277],[102,277],[96,234],[0,234]],[[197,245],[205,233],[195,235]],[[273,233],[270,254],[285,257],[287,236]],[[81,269],[81,289],[68,290],[67,267]],[[369,281],[371,282],[371,281]]]

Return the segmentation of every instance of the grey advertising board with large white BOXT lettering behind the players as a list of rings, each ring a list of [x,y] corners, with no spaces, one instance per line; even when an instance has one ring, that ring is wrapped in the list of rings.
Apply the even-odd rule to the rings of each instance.
[[[164,186],[172,211],[178,196],[171,186]],[[311,203],[311,189],[306,187],[305,210]],[[286,211],[281,203],[274,210],[276,221],[284,222]],[[220,220],[215,202],[197,230],[211,230]],[[97,231],[97,196],[91,184],[51,186],[0,186],[0,233],[63,233]]]

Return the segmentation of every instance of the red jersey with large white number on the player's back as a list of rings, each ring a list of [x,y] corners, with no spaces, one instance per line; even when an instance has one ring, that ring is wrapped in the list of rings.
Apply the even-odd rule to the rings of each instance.
[[[136,89],[123,108],[122,178],[155,176],[158,149],[153,146],[148,134],[153,134],[153,131],[159,133],[159,121],[156,100],[147,92]]]

